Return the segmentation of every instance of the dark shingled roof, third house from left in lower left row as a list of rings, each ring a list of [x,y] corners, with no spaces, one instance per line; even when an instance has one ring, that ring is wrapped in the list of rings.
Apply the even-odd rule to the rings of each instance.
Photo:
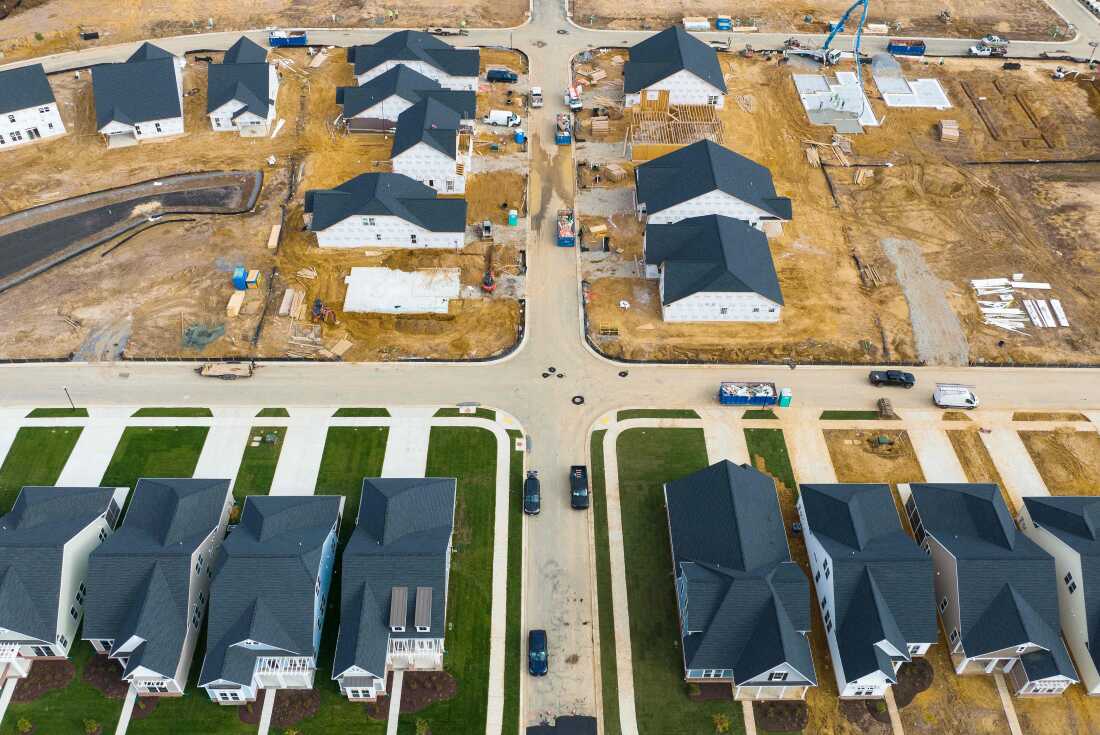
[[[336,495],[250,495],[226,538],[210,586],[199,685],[252,681],[260,656],[316,656],[314,600],[324,541],[340,519]],[[255,650],[243,640],[266,644]],[[274,649],[274,654],[272,651]]]

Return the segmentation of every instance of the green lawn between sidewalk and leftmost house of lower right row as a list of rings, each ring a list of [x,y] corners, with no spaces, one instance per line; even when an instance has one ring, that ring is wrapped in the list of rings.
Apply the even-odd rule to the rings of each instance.
[[[702,429],[630,429],[619,435],[619,503],[634,659],[635,707],[642,735],[714,732],[722,712],[743,733],[740,704],[692,702],[683,680],[668,516],[662,486],[706,467]]]

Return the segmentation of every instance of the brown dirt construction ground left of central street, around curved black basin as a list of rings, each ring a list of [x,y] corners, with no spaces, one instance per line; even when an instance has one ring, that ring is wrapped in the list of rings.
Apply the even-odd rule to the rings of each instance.
[[[484,268],[484,250],[474,245],[464,253],[396,251],[371,257],[360,251],[329,253],[316,248],[312,237],[301,231],[302,191],[386,169],[392,141],[342,135],[332,129],[338,112],[333,89],[352,84],[349,65],[332,58],[307,70],[304,52],[280,54],[296,65],[283,73],[278,114],[286,124],[275,139],[212,132],[205,117],[206,65],[194,59],[187,65],[184,83],[185,89],[198,90],[185,99],[187,132],[117,151],[108,151],[95,131],[89,75],[82,73],[77,79],[62,74],[51,79],[70,133],[6,152],[4,163],[22,174],[6,182],[0,213],[191,171],[260,168],[266,178],[255,211],[249,215],[199,217],[190,223],[153,228],[109,256],[100,256],[106,248],[97,249],[0,294],[0,308],[10,316],[0,325],[0,356],[77,353],[107,359],[122,351],[130,356],[286,354],[292,321],[274,312],[286,277],[294,279],[294,274],[307,266],[318,271],[317,278],[301,281],[308,303],[321,297],[338,309],[342,322],[324,327],[323,345],[332,347],[346,334],[354,345],[345,360],[476,358],[499,352],[515,341],[519,308],[507,298],[458,300],[452,303],[451,314],[435,319],[344,318],[339,312],[343,276],[352,265],[406,270],[457,266],[462,268],[462,283],[475,285]],[[270,155],[276,157],[274,166],[266,162]],[[283,244],[276,255],[266,242],[272,226],[279,221],[292,171],[300,173],[300,183],[287,207]],[[492,182],[502,174],[486,176]],[[513,185],[509,179],[506,188]],[[498,251],[496,262],[505,272],[518,271],[514,248]],[[250,292],[241,316],[227,318],[230,275],[237,264],[258,268],[265,277],[273,266],[283,274],[274,284],[273,303],[255,349],[251,341],[265,292]],[[196,323],[224,325],[226,336],[201,352],[188,351],[180,344],[180,332]]]

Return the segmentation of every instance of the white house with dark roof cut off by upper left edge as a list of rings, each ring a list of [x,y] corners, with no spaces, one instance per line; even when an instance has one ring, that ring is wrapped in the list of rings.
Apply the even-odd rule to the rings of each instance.
[[[0,150],[64,134],[42,64],[0,72]]]

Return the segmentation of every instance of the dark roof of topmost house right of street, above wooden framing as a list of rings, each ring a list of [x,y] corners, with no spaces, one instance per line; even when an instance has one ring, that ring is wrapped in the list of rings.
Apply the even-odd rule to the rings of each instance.
[[[681,70],[726,91],[717,52],[680,25],[630,46],[630,61],[623,66],[624,89],[628,95],[641,91]]]

